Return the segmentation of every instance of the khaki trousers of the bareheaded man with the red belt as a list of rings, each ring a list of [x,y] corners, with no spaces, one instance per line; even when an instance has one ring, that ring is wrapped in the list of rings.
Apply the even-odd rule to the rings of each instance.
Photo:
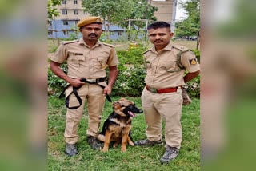
[[[162,140],[162,120],[165,121],[166,145],[181,147],[182,142],[182,90],[174,93],[142,92],[142,108],[146,120],[146,137],[150,141]]]

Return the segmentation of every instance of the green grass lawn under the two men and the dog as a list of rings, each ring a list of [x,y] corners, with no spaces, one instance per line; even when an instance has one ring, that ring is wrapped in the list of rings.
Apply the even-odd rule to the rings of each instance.
[[[141,108],[140,97],[127,97]],[[119,97],[112,97],[113,101]],[[161,164],[159,159],[165,152],[164,145],[154,147],[128,146],[126,153],[121,147],[110,147],[107,153],[90,148],[86,142],[87,113],[78,126],[78,155],[67,157],[64,153],[64,129],[66,120],[66,107],[64,100],[58,97],[49,97],[48,100],[48,170],[200,170],[199,148],[199,109],[200,101],[193,99],[191,105],[182,108],[182,149],[179,156],[169,164]],[[102,124],[112,112],[111,104],[106,101]],[[146,123],[144,116],[138,114],[133,119],[132,139],[137,141],[146,138]]]

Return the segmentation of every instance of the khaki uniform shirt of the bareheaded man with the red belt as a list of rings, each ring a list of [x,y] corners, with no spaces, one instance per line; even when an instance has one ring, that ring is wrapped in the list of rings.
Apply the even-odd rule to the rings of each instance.
[[[179,49],[179,50],[178,50]],[[144,62],[146,66],[146,85],[155,89],[166,89],[185,85],[183,75],[185,70],[195,72],[200,70],[200,66],[194,53],[190,50],[181,55],[181,64],[185,70],[181,70],[177,63],[177,54],[183,46],[174,46],[169,43],[163,50],[157,52],[151,48],[144,53]]]

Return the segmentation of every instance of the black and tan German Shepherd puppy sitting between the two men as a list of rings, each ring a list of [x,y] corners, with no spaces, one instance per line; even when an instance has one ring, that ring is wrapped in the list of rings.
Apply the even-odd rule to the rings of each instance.
[[[121,141],[121,151],[126,152],[127,141],[129,145],[134,146],[130,138],[130,129],[132,128],[131,120],[135,117],[135,113],[142,113],[133,101],[121,98],[113,103],[114,111],[104,122],[102,132],[98,135],[98,140],[104,141],[102,152],[107,152],[110,142],[114,141],[115,148]]]

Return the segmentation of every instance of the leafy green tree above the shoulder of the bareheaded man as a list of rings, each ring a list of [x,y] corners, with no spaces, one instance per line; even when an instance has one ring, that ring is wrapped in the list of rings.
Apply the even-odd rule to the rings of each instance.
[[[197,47],[199,46],[200,31],[200,0],[180,2],[188,17],[175,23],[175,36],[197,36]]]

